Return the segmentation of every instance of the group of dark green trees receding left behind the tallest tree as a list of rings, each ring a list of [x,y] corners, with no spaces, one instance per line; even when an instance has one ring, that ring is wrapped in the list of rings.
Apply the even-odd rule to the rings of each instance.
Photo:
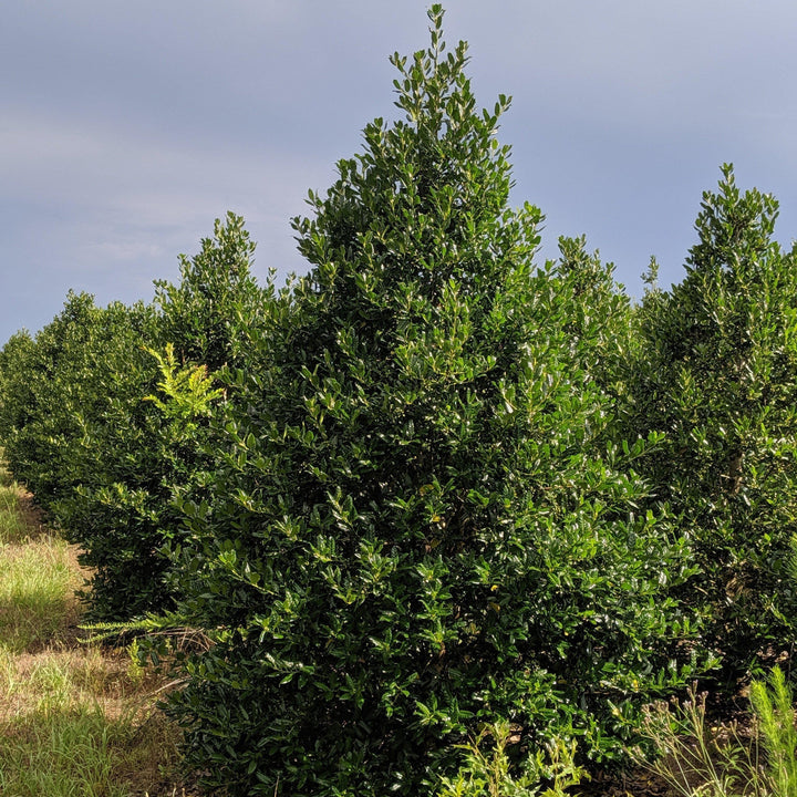
[[[81,546],[95,620],[174,607],[179,588],[165,556],[178,545],[173,498],[199,484],[213,460],[210,410],[164,418],[146,397],[166,396],[179,376],[177,362],[158,370],[157,350],[172,339],[182,358],[214,369],[240,360],[266,300],[249,273],[252,250],[242,219],[229,214],[199,255],[183,259],[183,281],[158,284],[159,308],[101,309],[87,294],[70,294],[34,341],[21,334],[3,349],[9,467]]]

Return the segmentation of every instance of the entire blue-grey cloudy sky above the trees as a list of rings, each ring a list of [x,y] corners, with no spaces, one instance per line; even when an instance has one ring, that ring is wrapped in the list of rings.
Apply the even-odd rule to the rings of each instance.
[[[0,343],[70,288],[152,298],[234,210],[256,275],[304,270],[289,219],[393,117],[390,53],[426,46],[416,0],[3,0]],[[629,292],[683,275],[701,193],[731,161],[797,236],[794,0],[448,0],[477,101],[513,107],[514,204],[540,259],[586,234]]]

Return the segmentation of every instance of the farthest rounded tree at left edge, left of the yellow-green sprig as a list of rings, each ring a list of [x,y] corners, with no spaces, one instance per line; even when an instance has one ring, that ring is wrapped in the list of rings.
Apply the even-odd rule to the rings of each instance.
[[[70,293],[63,312],[35,340],[14,337],[3,349],[6,457],[45,510],[81,484],[85,459],[101,458],[102,449],[87,438],[86,418],[113,424],[117,381],[127,377],[114,356],[135,373],[142,325],[151,320],[143,307],[102,309],[86,293]]]

